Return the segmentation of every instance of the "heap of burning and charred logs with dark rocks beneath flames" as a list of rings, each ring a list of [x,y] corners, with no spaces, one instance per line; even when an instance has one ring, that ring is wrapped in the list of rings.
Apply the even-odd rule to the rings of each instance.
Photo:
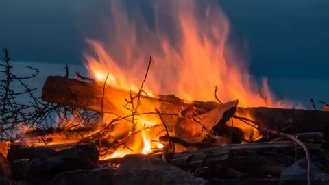
[[[120,114],[116,101],[103,97],[135,95],[103,88],[66,77],[48,77],[42,99]],[[99,160],[104,149],[115,152],[123,145],[106,137],[110,125],[34,130],[26,133],[29,142],[44,145],[12,143],[7,159],[0,158],[0,173],[11,170],[11,175],[2,175],[3,183],[329,184],[329,112],[241,108],[239,101],[188,102],[173,95],[138,95],[138,101],[141,108],[154,106],[153,113],[161,116],[167,130],[160,141],[171,143],[171,147],[166,145],[147,155]],[[246,113],[252,119],[242,116]],[[258,130],[260,137],[245,138],[236,123]],[[188,131],[190,127],[198,130],[198,137]],[[67,142],[49,145],[56,138]]]

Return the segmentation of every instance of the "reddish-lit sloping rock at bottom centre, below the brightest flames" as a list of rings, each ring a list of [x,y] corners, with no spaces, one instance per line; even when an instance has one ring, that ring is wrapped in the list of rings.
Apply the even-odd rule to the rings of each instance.
[[[199,185],[208,184],[208,181],[194,177],[156,156],[128,155],[114,172],[114,184]]]

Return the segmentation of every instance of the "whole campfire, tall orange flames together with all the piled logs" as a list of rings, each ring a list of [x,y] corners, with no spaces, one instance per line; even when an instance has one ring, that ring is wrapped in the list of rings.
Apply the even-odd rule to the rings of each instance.
[[[208,6],[198,12],[193,1],[173,2],[169,10],[156,6],[154,29],[132,23],[114,5],[112,44],[88,40],[93,49],[93,54],[85,55],[88,77],[80,73],[69,77],[68,66],[66,76],[47,77],[42,101],[64,106],[72,110],[71,115],[58,118],[60,127],[25,127],[23,137],[13,140],[9,151],[8,142],[3,144],[7,150],[1,153],[12,162],[14,178],[34,182],[32,169],[41,168],[38,164],[56,166],[68,162],[70,153],[82,152],[88,158],[83,161],[91,162],[81,164],[89,175],[90,170],[98,174],[97,165],[106,164],[110,165],[106,173],[129,176],[127,171],[136,164],[147,173],[178,167],[168,172],[177,174],[172,176],[178,184],[184,175],[195,184],[238,180],[310,184],[320,178],[311,177],[313,168],[329,179],[325,172],[329,112],[277,100],[266,79],[259,88],[229,45],[230,25],[219,8]],[[169,14],[164,17],[165,12]],[[166,26],[175,29],[175,42],[162,32]],[[138,36],[137,28],[143,36]],[[84,124],[86,119],[93,121]],[[60,162],[53,164],[49,158]],[[294,170],[306,178],[295,180],[289,172],[304,158],[306,167]],[[27,165],[27,171],[19,171],[20,165]],[[74,166],[52,175],[64,174],[58,177],[62,180],[66,173],[80,169]],[[126,172],[114,172],[120,169]],[[141,176],[148,175],[144,173]],[[36,177],[36,184],[51,177]]]

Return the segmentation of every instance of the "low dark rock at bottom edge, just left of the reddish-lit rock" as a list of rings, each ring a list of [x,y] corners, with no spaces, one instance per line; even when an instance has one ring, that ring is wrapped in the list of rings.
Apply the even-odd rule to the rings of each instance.
[[[112,185],[114,169],[101,167],[93,170],[76,170],[60,173],[53,177],[47,185]]]

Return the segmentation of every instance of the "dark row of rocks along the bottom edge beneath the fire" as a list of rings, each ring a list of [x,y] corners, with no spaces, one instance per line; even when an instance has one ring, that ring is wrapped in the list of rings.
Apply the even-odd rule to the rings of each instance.
[[[130,185],[130,184],[306,184],[306,160],[284,169],[280,179],[208,180],[165,162],[160,156],[130,155],[119,168],[100,162],[95,145],[79,145],[35,158],[9,161],[0,155],[0,184],[21,185]],[[329,175],[311,167],[313,184],[328,184]]]

